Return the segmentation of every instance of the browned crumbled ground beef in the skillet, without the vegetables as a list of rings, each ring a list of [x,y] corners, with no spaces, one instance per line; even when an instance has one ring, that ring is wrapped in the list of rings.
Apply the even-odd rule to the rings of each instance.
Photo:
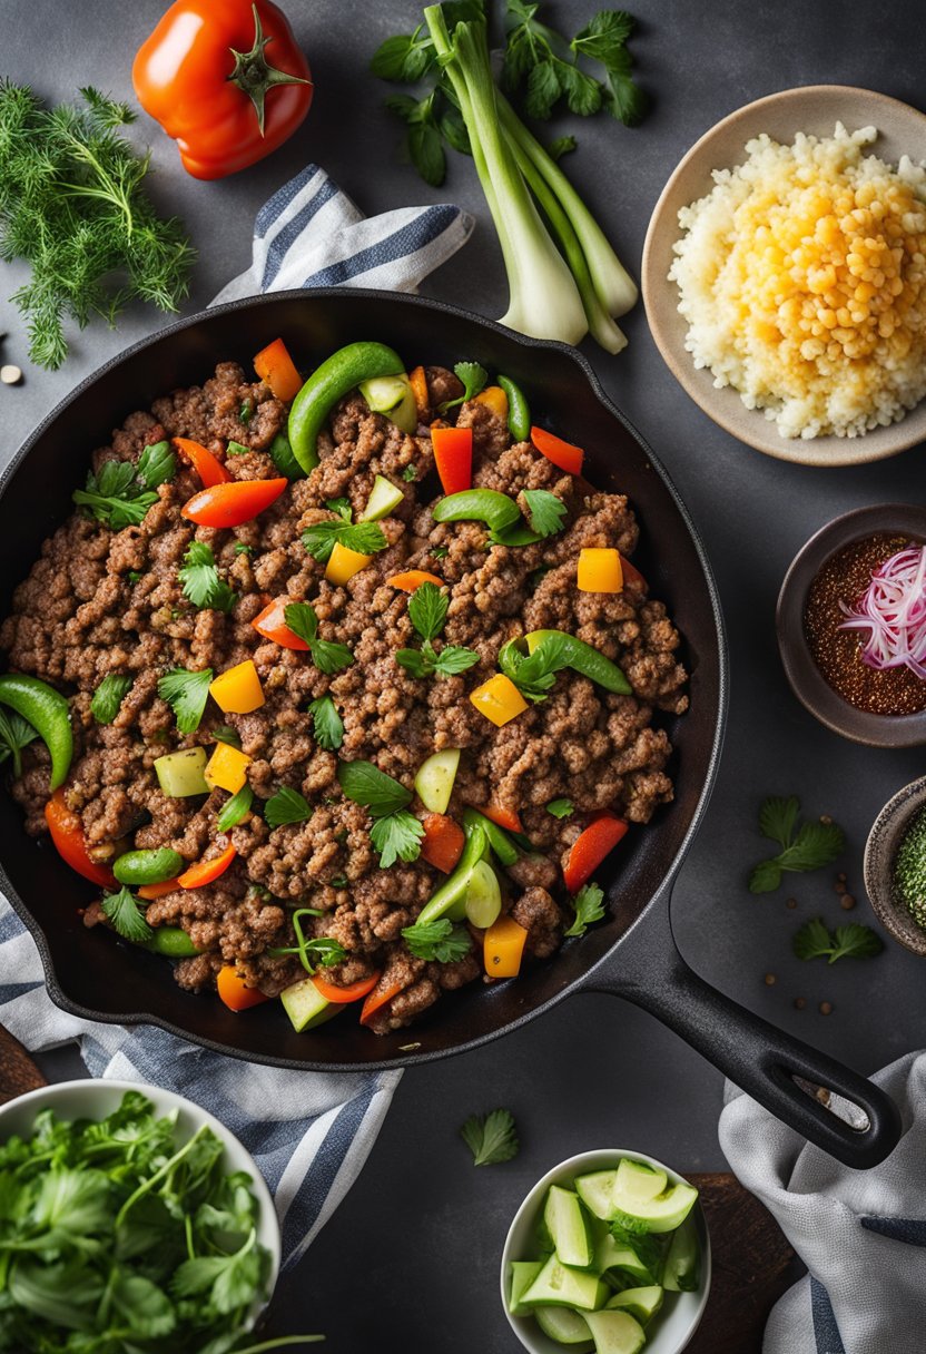
[[[370,812],[341,792],[338,757],[371,761],[412,788],[425,757],[462,749],[448,814],[459,819],[464,806],[489,802],[520,814],[535,854],[509,871],[506,906],[528,932],[528,953],[540,959],[558,949],[569,923],[560,865],[590,815],[609,808],[644,823],[671,799],[671,747],[654,715],[686,708],[680,636],[662,603],[648,598],[632,574],[615,594],[575,588],[583,546],[632,552],[638,528],[627,500],[589,492],[529,443],[512,445],[491,408],[470,401],[458,409],[456,421],[474,433],[474,483],[516,498],[546,489],[566,505],[567,525],[535,544],[509,548],[493,546],[481,523],[435,523],[431,506],[439,485],[429,422],[437,405],[462,387],[435,367],[428,368],[428,383],[432,409],[416,436],[371,413],[359,394],[341,401],[330,432],[319,439],[321,462],[311,475],[230,531],[194,527],[181,517],[200,482],[180,458],[176,477],[158,489],[141,524],[114,532],[74,513],[45,542],[16,590],[0,643],[12,670],[45,678],[70,697],[76,753],[65,799],[80,815],[89,854],[108,861],[129,846],[171,846],[192,862],[229,841],[237,849],[214,883],[176,888],[148,907],[153,926],[181,926],[202,951],[175,965],[183,987],[210,988],[219,968],[232,964],[249,984],[278,994],[303,975],[298,956],[271,953],[294,945],[292,913],[299,906],[318,910],[305,922],[314,938],[343,946],[343,961],[325,971],[330,982],[349,984],[380,972],[380,988],[398,991],[376,1014],[378,1032],[407,1024],[441,991],[489,980],[475,945],[452,963],[409,952],[401,932],[443,876],[421,858],[379,868]],[[246,424],[240,418],[245,401],[252,409]],[[112,444],[93,454],[93,467],[99,471],[111,459],[134,462],[146,445],[181,436],[206,445],[236,479],[272,478],[279,471],[267,448],[284,428],[286,413],[267,386],[222,363],[202,389],[173,391],[156,401],[150,414],[127,418]],[[246,454],[227,455],[229,440]],[[325,566],[303,547],[302,532],[332,520],[328,502],[334,498],[347,498],[359,516],[378,474],[403,492],[382,523],[387,548],[347,586],[333,586]],[[184,596],[177,570],[192,540],[211,547],[236,590],[229,613],[196,609]],[[449,608],[441,642],[472,649],[477,666],[426,680],[397,663],[398,649],[418,645],[407,594],[386,582],[405,569],[425,569],[445,581]],[[325,676],[306,653],[261,638],[252,621],[279,596],[310,600],[321,638],[347,645],[355,662]],[[493,676],[508,639],[542,628],[569,631],[617,661],[634,693],[611,695],[567,670],[548,699],[497,728],[467,696]],[[158,677],[177,666],[221,673],[245,659],[257,668],[265,704],[253,714],[229,715],[210,703],[199,728],[179,734],[158,696]],[[108,673],[130,676],[133,686],[112,723],[99,724],[91,697]],[[338,753],[318,745],[307,711],[325,695],[344,722]],[[252,758],[248,780],[256,796],[253,811],[226,835],[217,829],[229,798],[223,791],[171,799],[154,772],[156,758],[167,751],[211,750],[219,724],[233,726]],[[261,802],[283,785],[299,791],[313,814],[307,822],[271,829]],[[41,742],[26,749],[12,793],[26,812],[27,831],[46,831],[49,757]],[[571,800],[573,812],[558,819],[546,806],[560,798]],[[106,922],[99,904],[87,909],[85,922]],[[472,936],[478,942],[479,933]]]

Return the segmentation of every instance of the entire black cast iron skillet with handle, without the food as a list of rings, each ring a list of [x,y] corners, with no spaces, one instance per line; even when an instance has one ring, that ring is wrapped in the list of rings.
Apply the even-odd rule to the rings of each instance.
[[[669,886],[711,792],[726,714],[727,666],[716,589],[703,547],[669,477],[608,402],[588,363],[571,348],[533,343],[500,325],[432,301],[330,288],[232,302],[184,320],[130,348],[88,378],[27,440],[0,481],[0,607],[39,547],[70,512],[89,452],[134,409],[175,386],[200,383],[217,360],[250,359],[283,334],[296,364],[310,370],[356,338],[391,344],[409,364],[478,357],[528,391],[536,416],[586,448],[593,483],[630,496],[642,524],[639,562],[685,638],[690,711],[670,728],[677,747],[676,800],[635,829],[615,853],[611,918],[571,941],[552,961],[517,982],[444,997],[412,1030],[375,1037],[349,1016],[296,1034],[273,1003],[245,1016],[208,997],[183,992],[164,960],[80,923],[92,890],[46,844],[23,833],[12,799],[0,793],[0,886],[32,932],[49,991],[65,1010],[99,1021],[149,1022],[218,1052],[280,1067],[378,1070],[478,1048],[548,1010],[569,992],[616,992],[677,1030],[774,1114],[850,1166],[875,1166],[894,1148],[892,1101],[861,1076],[736,1006],[697,978],[671,937]],[[472,990],[477,988],[477,990]],[[402,1045],[414,1044],[413,1051]],[[850,1128],[801,1089],[799,1076],[829,1087],[868,1116]]]

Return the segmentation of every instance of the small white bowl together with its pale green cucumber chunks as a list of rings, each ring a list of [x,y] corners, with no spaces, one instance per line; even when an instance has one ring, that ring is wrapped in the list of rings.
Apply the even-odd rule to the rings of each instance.
[[[531,1354],[678,1354],[711,1288],[697,1190],[642,1152],[571,1156],[517,1210],[501,1288]]]

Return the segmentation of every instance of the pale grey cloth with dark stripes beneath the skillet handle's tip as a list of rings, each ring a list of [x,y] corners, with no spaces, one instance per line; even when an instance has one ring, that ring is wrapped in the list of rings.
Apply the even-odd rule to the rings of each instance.
[[[926,1350],[926,1052],[872,1080],[896,1102],[904,1133],[868,1171],[841,1166],[727,1087],[720,1145],[810,1271],[772,1309],[764,1354]]]

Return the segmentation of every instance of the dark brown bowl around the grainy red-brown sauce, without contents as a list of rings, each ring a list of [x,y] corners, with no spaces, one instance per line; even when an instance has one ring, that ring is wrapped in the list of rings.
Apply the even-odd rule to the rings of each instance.
[[[856,709],[829,685],[804,634],[807,593],[831,555],[877,532],[908,532],[926,540],[926,508],[915,504],[877,504],[834,517],[800,550],[784,577],[774,623],[784,670],[797,700],[834,734],[869,747],[917,747],[926,743],[926,709],[915,715],[872,715]]]

